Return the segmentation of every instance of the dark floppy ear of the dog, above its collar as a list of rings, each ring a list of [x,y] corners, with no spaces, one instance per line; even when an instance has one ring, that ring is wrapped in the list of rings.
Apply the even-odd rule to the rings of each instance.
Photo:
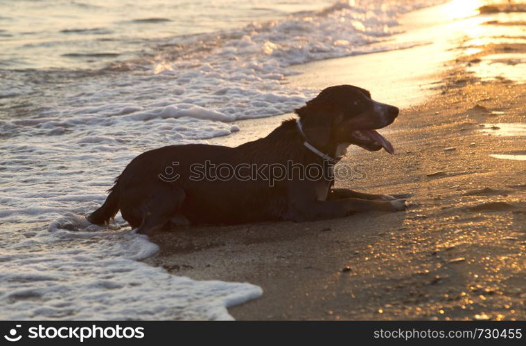
[[[296,113],[301,118],[301,125],[309,142],[317,147],[324,147],[331,140],[331,119],[308,107],[307,103],[306,106],[296,109]]]

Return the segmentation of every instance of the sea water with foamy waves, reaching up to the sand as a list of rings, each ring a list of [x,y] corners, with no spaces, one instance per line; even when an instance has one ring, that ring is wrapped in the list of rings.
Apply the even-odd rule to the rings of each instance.
[[[398,16],[437,2],[0,0],[0,318],[231,318],[260,287],[170,275],[82,215],[137,154],[292,111],[314,93],[290,65],[403,48]]]

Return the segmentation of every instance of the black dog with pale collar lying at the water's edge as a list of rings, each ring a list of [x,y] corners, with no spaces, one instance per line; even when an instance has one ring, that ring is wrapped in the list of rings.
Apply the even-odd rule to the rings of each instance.
[[[331,174],[349,145],[393,154],[392,144],[375,130],[394,122],[398,112],[358,86],[328,87],[295,109],[297,119],[283,121],[265,138],[238,147],[169,145],[140,154],[87,219],[107,224],[121,210],[138,233],[150,234],[177,217],[225,225],[405,210],[405,199],[396,195],[333,188]],[[318,167],[322,174],[306,176],[302,167]]]

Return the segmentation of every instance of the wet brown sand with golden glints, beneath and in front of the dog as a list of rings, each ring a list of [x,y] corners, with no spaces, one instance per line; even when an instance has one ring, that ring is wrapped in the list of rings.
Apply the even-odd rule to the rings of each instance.
[[[525,123],[526,84],[480,74],[477,64],[524,55],[526,44],[471,52],[430,74],[434,95],[382,131],[394,156],[352,149],[344,158],[365,164],[367,176],[337,187],[411,193],[406,212],[177,228],[151,237],[161,251],[146,262],[198,280],[258,284],[261,298],[229,309],[237,320],[525,320],[525,161],[491,155],[526,155],[524,131],[505,125]],[[323,82],[349,83],[338,71],[356,61],[318,62],[290,82],[318,85],[323,71]],[[223,143],[264,136],[279,121],[252,120]]]

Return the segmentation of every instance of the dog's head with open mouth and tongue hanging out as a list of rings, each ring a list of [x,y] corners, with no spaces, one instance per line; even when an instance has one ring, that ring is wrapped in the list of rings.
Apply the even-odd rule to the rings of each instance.
[[[391,143],[374,130],[394,122],[398,108],[371,100],[371,93],[358,86],[328,87],[296,113],[306,136],[320,148],[350,143],[394,153]]]

